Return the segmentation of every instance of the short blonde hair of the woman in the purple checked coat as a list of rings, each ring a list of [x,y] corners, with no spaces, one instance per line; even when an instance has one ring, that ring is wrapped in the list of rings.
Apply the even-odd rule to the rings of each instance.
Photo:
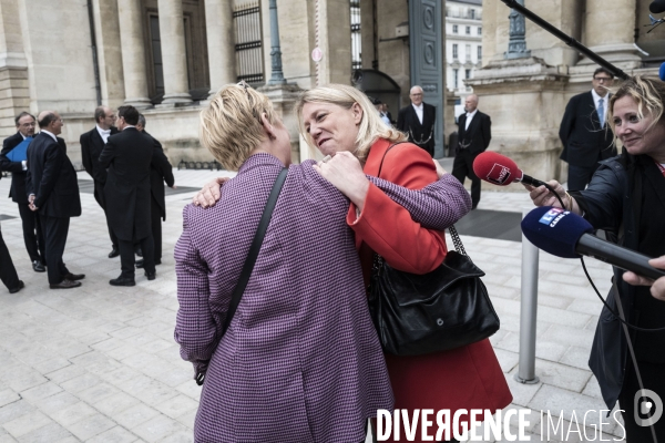
[[[201,111],[201,144],[229,171],[238,171],[264,141],[262,115],[270,124],[276,113],[270,100],[247,84],[227,84]]]

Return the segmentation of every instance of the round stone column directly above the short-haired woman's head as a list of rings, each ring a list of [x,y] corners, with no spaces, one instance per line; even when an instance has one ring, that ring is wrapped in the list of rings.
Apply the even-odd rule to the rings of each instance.
[[[212,95],[236,81],[232,1],[205,0],[205,27]]]

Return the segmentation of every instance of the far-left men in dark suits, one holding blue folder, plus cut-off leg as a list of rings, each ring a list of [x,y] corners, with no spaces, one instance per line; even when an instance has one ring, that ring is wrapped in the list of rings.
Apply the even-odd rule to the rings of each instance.
[[[37,135],[35,123],[40,127]],[[64,140],[58,136],[64,123],[58,112],[42,111],[37,119],[23,112],[16,124],[17,134],[2,145],[0,167],[12,173],[10,197],[19,205],[32,268],[37,272],[47,271],[51,289],[75,288],[85,275],[72,274],[62,255],[70,218],[81,215],[81,198],[76,172],[66,156]],[[6,250],[6,245],[0,249]],[[0,267],[4,268],[11,257],[4,251],[2,255]],[[9,281],[3,278],[3,282],[10,292],[17,292],[24,284],[18,276],[14,278],[13,264],[9,269]]]

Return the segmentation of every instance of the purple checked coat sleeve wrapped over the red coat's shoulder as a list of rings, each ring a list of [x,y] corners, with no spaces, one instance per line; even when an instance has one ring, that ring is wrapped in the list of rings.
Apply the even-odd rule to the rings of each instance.
[[[390,199],[406,208],[411,218],[428,229],[444,230],[471,210],[471,197],[450,174],[422,189],[408,189],[382,178],[368,176]]]

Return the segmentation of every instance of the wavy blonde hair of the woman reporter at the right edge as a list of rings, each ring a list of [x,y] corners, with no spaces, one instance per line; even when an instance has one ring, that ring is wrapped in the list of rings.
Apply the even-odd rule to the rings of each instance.
[[[616,130],[614,124],[614,103],[617,100],[630,96],[637,103],[637,116],[640,120],[645,115],[653,116],[653,121],[646,131],[654,127],[663,120],[663,111],[665,103],[665,83],[655,76],[635,75],[623,82],[618,90],[610,99],[610,109],[607,110],[607,119],[610,126],[616,138]]]

